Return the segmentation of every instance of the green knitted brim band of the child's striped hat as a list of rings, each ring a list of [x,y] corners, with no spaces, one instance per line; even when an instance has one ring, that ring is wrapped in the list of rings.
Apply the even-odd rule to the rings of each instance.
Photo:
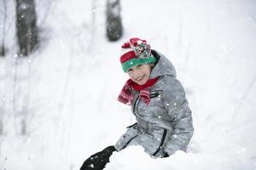
[[[127,72],[131,67],[135,65],[143,65],[143,64],[152,64],[154,63],[155,59],[153,55],[150,55],[147,58],[133,58],[129,59],[125,63],[122,64],[123,71]]]

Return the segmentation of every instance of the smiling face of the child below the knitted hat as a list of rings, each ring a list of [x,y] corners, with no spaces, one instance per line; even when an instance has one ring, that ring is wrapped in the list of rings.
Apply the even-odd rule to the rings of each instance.
[[[127,74],[133,82],[139,85],[143,85],[148,82],[150,77],[151,66],[148,64],[135,65],[127,71]]]

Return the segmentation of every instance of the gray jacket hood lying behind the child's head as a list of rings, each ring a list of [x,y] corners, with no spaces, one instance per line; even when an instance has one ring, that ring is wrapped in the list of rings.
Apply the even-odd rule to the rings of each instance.
[[[160,54],[155,50],[151,50],[151,52],[157,60],[157,63],[156,65],[154,65],[154,68],[151,71],[150,79],[165,75],[176,77],[176,71],[174,66],[172,65],[172,62],[167,59],[163,54]]]

